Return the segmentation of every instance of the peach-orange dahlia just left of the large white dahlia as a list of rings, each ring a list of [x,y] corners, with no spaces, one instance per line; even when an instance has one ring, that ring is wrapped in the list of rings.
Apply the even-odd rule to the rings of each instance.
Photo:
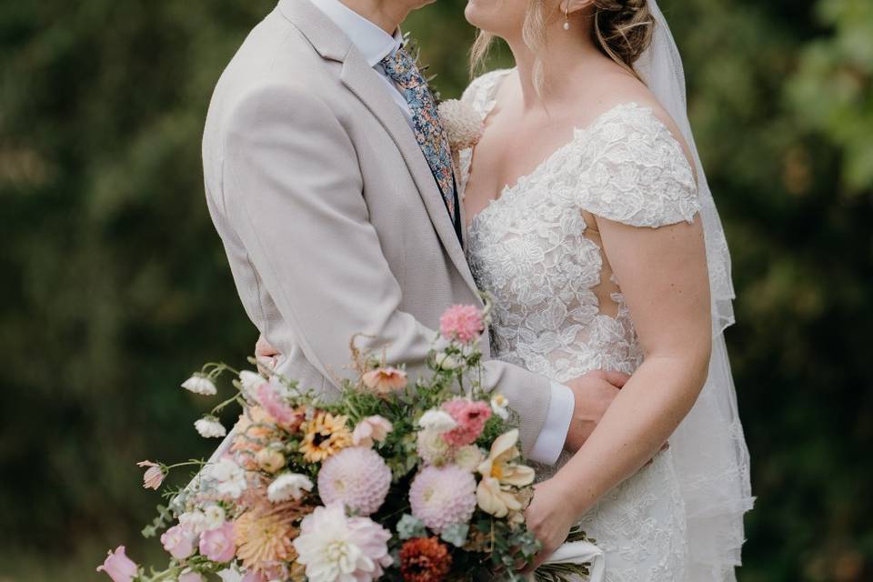
[[[299,528],[294,524],[306,514],[296,502],[257,503],[234,522],[236,557],[246,569],[264,572],[276,563],[297,557],[294,539]]]

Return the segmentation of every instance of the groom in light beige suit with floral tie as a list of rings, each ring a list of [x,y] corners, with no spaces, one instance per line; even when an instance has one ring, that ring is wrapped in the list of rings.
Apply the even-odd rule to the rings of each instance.
[[[352,336],[415,377],[442,312],[479,303],[445,132],[398,32],[423,4],[280,0],[206,118],[206,199],[246,313],[281,371],[323,392],[351,375]],[[525,453],[547,464],[581,446],[625,379],[485,371],[521,416]]]

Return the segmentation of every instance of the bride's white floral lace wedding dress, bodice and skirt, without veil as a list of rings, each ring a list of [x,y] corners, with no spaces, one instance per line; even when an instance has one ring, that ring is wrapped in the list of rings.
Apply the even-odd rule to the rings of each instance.
[[[483,75],[467,89],[464,100],[483,119],[506,74]],[[460,156],[462,187],[471,156],[471,150]],[[634,325],[583,212],[658,227],[692,221],[698,209],[682,147],[650,109],[617,105],[575,130],[566,146],[507,186],[469,227],[473,274],[495,297],[493,353],[558,382],[594,369],[632,374],[642,361]],[[562,457],[558,467],[566,461]],[[537,467],[540,478],[554,471]],[[669,450],[609,492],[581,525],[604,550],[609,582],[693,579]]]

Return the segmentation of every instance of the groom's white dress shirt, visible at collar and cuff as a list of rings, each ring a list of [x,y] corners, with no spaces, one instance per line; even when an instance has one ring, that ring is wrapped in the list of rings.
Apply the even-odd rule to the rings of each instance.
[[[364,16],[344,5],[339,0],[311,0],[316,7],[333,21],[343,31],[357,51],[364,55],[366,62],[373,67],[376,75],[385,81],[386,91],[400,111],[406,117],[406,122],[412,126],[412,112],[406,103],[406,98],[388,78],[385,69],[379,63],[387,55],[392,55],[403,44],[403,35],[398,29],[394,35],[387,34],[382,28],[374,25]],[[510,406],[512,403],[510,403]],[[547,465],[553,465],[564,449],[567,431],[573,419],[573,408],[576,399],[573,391],[563,384],[552,383],[552,397],[549,401],[546,423],[531,450],[531,460]]]

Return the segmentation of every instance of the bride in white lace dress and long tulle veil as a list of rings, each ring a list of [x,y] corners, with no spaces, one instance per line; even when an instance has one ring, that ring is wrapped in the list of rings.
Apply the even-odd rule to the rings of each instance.
[[[517,65],[464,95],[485,125],[459,179],[494,353],[557,382],[632,375],[576,455],[537,467],[541,555],[579,523],[609,581],[734,580],[752,499],[728,247],[667,23],[654,0],[469,0],[466,15],[474,65],[494,35]]]

